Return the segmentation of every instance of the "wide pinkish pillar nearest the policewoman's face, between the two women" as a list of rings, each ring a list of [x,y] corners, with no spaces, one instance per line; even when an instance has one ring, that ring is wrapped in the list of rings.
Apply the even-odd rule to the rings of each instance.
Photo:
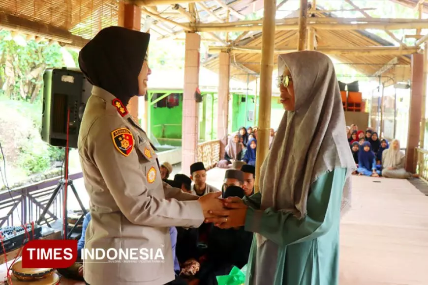
[[[182,172],[190,174],[190,165],[196,162],[199,137],[199,106],[195,91],[199,86],[199,47],[201,36],[186,33],[184,56]]]

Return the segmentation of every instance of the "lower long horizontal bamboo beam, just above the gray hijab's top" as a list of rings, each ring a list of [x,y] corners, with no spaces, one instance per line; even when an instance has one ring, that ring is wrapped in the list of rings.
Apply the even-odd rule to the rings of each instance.
[[[275,54],[285,54],[296,52],[294,48],[277,48],[275,49]],[[384,47],[384,46],[374,46],[374,47],[355,47],[355,48],[318,48],[317,51],[322,52],[327,55],[354,55],[354,56],[400,56],[400,55],[409,55],[418,53],[418,47]],[[216,54],[220,52],[230,52],[235,54],[260,54],[260,47],[208,47],[208,53]]]

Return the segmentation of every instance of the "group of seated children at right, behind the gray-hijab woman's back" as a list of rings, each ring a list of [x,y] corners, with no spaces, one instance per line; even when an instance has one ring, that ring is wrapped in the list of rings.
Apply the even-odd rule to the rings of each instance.
[[[357,125],[351,125],[346,127],[346,131],[357,166],[353,174],[401,179],[418,176],[404,169],[405,154],[400,150],[397,139],[390,147],[386,139],[380,139],[371,129],[363,132]]]

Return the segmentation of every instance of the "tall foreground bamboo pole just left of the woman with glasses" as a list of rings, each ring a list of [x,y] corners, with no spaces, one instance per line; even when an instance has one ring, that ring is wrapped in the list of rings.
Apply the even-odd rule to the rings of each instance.
[[[271,133],[272,72],[274,69],[276,1],[264,0],[262,60],[260,62],[260,101],[257,123],[257,159],[255,192],[260,191],[260,168],[268,156]]]

